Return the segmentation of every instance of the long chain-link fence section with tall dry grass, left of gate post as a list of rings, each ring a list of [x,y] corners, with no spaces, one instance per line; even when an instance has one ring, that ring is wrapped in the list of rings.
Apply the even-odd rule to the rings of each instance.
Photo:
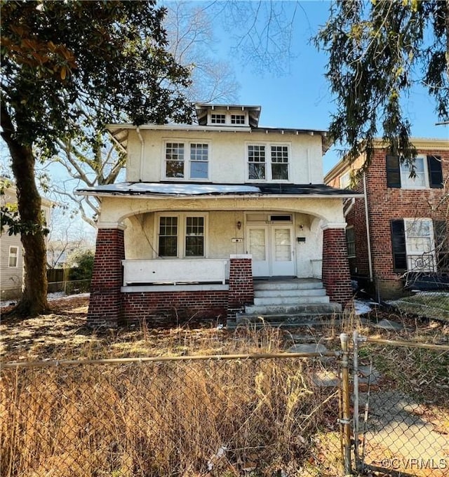
[[[339,476],[340,356],[1,369],[1,476]]]

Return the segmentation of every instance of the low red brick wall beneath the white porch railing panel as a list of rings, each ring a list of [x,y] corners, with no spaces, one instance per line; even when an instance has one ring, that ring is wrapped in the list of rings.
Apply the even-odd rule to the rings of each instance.
[[[123,293],[121,321],[146,321],[150,328],[200,320],[223,323],[227,297],[227,290]]]

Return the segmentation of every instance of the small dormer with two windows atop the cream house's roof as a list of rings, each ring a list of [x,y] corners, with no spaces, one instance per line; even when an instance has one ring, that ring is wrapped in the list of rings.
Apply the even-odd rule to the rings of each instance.
[[[260,106],[195,105],[200,126],[229,126],[232,128],[257,128]]]

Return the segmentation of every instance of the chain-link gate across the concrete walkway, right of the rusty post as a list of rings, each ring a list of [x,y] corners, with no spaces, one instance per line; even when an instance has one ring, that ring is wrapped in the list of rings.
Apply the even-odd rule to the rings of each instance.
[[[448,476],[449,347],[360,341],[355,333],[356,469]]]

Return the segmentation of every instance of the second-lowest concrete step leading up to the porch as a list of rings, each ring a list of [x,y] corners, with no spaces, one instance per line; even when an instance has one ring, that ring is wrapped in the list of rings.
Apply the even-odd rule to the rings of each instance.
[[[328,297],[326,297],[328,299]],[[297,315],[307,313],[309,315],[328,315],[333,313],[340,313],[342,307],[338,303],[333,302],[310,302],[306,300],[304,303],[290,303],[290,304],[265,304],[265,305],[247,305],[245,307],[246,315]]]

